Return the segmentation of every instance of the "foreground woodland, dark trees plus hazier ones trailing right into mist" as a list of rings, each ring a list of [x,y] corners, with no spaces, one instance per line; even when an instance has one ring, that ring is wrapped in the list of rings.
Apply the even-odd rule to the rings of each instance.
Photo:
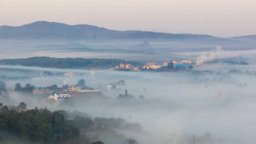
[[[92,121],[87,113],[80,111],[70,113],[71,119],[65,117],[69,117],[65,110],[51,112],[35,107],[18,112],[0,103],[0,143],[9,143],[15,138],[20,144],[104,144],[99,140],[109,144],[131,144],[134,141],[110,128],[129,131],[141,128],[139,124],[127,123],[121,118],[96,117]],[[90,138],[87,132],[97,133],[97,136]]]

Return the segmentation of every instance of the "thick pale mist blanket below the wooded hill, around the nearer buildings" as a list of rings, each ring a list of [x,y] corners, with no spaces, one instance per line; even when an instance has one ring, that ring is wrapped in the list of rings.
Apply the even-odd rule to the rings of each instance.
[[[224,67],[222,69],[222,67]],[[168,134],[175,133],[196,137],[206,132],[212,134],[214,141],[225,140],[225,143],[251,143],[254,134],[254,116],[256,102],[256,75],[245,71],[255,65],[213,64],[201,65],[198,70],[180,72],[124,72],[97,71],[94,76],[89,71],[72,70],[84,73],[77,79],[85,79],[86,85],[100,89],[106,96],[101,99],[74,99],[74,106],[49,105],[38,102],[25,95],[13,92],[10,97],[15,102],[24,101],[29,108],[48,107],[52,110],[79,110],[92,117],[121,117],[131,122],[140,123],[145,131],[161,135],[167,141]],[[13,68],[13,67],[8,67]],[[27,67],[17,67],[26,69]],[[211,70],[210,70],[211,68]],[[234,68],[243,69],[242,73],[232,73]],[[52,73],[67,71],[65,69],[33,68],[30,70],[48,70]],[[118,99],[125,89],[107,90],[106,85],[124,79],[125,89],[134,99]],[[7,88],[15,83],[31,83],[35,86],[63,85],[63,78],[58,76],[34,78],[33,80],[6,80]],[[246,84],[246,85],[245,85]],[[144,99],[139,96],[143,95]],[[128,135],[128,134],[127,134]],[[137,137],[142,141],[144,136]]]

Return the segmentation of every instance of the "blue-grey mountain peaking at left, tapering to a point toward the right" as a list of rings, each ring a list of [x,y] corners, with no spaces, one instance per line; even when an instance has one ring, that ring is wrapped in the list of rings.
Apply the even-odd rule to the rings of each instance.
[[[67,25],[37,21],[18,27],[0,26],[0,39],[188,39],[214,38],[200,34],[170,34],[151,31],[117,31],[93,25]]]

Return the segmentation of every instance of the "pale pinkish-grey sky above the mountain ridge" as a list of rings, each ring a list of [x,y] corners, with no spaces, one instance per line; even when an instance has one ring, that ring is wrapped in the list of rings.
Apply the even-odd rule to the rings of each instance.
[[[0,25],[35,21],[245,36],[256,34],[256,0],[0,0]]]

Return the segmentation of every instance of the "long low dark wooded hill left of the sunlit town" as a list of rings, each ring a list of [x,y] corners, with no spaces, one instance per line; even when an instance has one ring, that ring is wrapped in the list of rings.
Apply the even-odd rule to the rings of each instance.
[[[109,68],[116,65],[132,64],[134,66],[142,65],[139,62],[126,61],[124,59],[105,59],[105,58],[51,58],[51,57],[31,57],[21,59],[1,59],[0,65],[22,65],[31,67],[49,67],[49,68]]]

